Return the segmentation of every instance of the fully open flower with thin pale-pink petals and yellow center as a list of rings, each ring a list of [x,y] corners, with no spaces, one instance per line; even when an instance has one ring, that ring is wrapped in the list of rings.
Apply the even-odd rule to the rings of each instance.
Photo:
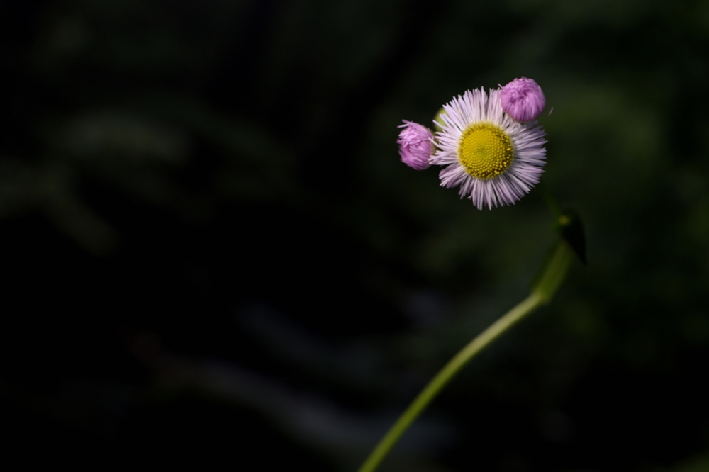
[[[466,91],[443,106],[438,150],[431,164],[447,166],[441,185],[460,186],[461,197],[483,206],[510,205],[539,182],[547,151],[537,123],[519,123],[503,112],[498,89]]]

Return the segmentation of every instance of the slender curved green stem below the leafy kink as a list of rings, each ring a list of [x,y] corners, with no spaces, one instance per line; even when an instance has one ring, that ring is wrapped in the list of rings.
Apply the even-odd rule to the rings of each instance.
[[[423,412],[429,403],[438,395],[440,390],[446,386],[451,378],[467,364],[476,354],[481,352],[491,342],[500,337],[503,332],[506,332],[513,327],[519,320],[529,315],[535,309],[539,308],[548,300],[540,296],[537,291],[532,291],[532,294],[522,300],[515,308],[508,311],[499,320],[494,322],[485,331],[481,332],[475,339],[469,342],[461,351],[456,354],[453,359],[448,361],[443,369],[428,383],[428,385],[418,394],[418,397],[413,400],[413,403],[408,406],[405,412],[396,420],[396,423],[389,429],[386,436],[381,438],[379,444],[376,445],[372,454],[369,454],[367,461],[364,461],[359,472],[372,472],[379,463],[389,454],[391,448],[396,444],[401,435],[406,432],[411,423]]]

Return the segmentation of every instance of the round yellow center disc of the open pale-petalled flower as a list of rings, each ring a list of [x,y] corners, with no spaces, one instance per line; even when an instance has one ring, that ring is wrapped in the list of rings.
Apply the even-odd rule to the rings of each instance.
[[[492,179],[505,172],[514,154],[510,137],[492,123],[470,125],[458,145],[460,165],[477,179]]]

